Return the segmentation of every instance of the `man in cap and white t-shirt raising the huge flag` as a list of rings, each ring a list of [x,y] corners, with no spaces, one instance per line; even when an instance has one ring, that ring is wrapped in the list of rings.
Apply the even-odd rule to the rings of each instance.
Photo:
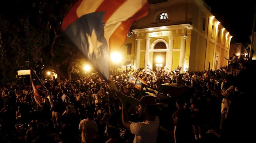
[[[122,94],[119,91],[119,94]],[[124,96],[123,94],[121,96]],[[143,122],[134,123],[128,121],[126,111],[126,100],[122,102],[122,123],[124,127],[135,134],[133,143],[156,143],[157,131],[159,127],[159,118],[157,116],[156,99],[153,96],[146,95],[140,99],[138,108],[139,117]]]

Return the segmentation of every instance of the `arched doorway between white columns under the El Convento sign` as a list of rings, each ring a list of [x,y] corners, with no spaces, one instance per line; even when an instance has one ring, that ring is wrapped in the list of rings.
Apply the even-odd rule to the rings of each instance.
[[[158,42],[154,46],[154,53],[153,53],[153,64],[152,68],[153,70],[156,70],[157,64],[160,64],[161,69],[163,69],[166,66],[166,51],[161,51],[162,49],[166,49],[166,43],[164,42]],[[157,51],[159,50],[159,51]],[[162,59],[162,62],[158,63],[157,58],[160,57]]]

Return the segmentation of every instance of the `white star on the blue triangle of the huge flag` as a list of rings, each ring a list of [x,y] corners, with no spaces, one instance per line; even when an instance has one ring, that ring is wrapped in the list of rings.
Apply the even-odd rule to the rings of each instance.
[[[86,33],[86,37],[89,43],[89,54],[92,55],[94,52],[96,58],[98,58],[98,47],[100,47],[102,43],[98,41],[95,30],[92,30],[91,36]]]

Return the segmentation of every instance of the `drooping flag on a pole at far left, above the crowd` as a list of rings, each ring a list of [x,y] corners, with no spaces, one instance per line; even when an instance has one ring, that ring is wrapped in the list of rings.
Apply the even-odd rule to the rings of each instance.
[[[38,76],[35,74],[35,71],[32,68],[30,69],[30,79],[31,79],[32,88],[33,88],[33,92],[34,92],[35,102],[37,103],[38,106],[41,107],[40,103],[43,102],[43,99],[38,94],[37,89],[44,86],[44,85],[40,81]]]

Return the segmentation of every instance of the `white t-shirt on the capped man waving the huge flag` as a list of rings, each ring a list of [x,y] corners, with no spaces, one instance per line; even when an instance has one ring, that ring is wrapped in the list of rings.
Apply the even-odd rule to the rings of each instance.
[[[133,143],[156,143],[158,127],[158,116],[156,116],[155,121],[132,122],[130,124],[130,130],[132,134],[135,134]]]

